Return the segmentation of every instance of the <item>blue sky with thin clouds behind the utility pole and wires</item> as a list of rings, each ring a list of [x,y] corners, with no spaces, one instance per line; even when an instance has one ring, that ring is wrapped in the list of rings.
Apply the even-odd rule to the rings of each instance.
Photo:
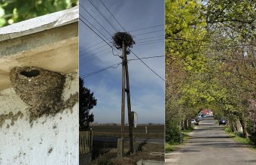
[[[80,1],[80,19],[107,43],[112,46],[111,35],[116,31],[123,31],[124,28],[130,31],[136,41],[131,50],[140,58],[164,55],[163,0],[102,0],[102,2]],[[120,123],[121,65],[115,64],[121,62],[117,56],[121,52],[114,50],[113,55],[111,46],[102,41],[102,38],[84,23],[79,22],[79,74],[84,79],[84,85],[97,99],[96,107],[91,110],[94,121]],[[141,28],[145,29],[139,30]],[[127,57],[136,59],[132,53]],[[164,78],[164,57],[143,59],[143,62]],[[87,77],[88,74],[111,65],[112,68]],[[138,123],[164,123],[164,81],[139,60],[130,61],[128,65],[131,105],[132,110],[138,114]],[[125,115],[127,122],[127,108]]]

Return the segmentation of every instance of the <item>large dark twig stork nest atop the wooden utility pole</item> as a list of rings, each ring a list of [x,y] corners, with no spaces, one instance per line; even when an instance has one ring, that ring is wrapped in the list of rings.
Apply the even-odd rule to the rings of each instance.
[[[133,36],[127,32],[117,32],[114,34],[112,39],[114,40],[114,46],[117,49],[122,49],[123,40],[128,47],[133,47],[133,44],[135,44]]]

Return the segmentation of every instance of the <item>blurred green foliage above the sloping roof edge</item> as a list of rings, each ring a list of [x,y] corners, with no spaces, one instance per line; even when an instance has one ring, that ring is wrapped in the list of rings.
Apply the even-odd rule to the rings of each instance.
[[[77,4],[77,0],[0,0],[0,27],[65,10]]]

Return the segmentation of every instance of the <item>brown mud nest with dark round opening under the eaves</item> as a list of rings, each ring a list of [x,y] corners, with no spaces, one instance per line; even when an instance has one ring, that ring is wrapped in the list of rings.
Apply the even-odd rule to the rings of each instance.
[[[62,74],[42,68],[15,67],[11,70],[10,80],[17,95],[29,106],[30,121],[61,110],[66,80]]]

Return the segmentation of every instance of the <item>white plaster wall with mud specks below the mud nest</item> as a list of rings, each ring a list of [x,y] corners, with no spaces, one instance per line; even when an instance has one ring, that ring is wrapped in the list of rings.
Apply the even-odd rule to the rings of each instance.
[[[69,74],[66,88],[62,93],[64,100],[78,92],[77,73]],[[29,123],[27,107],[14,89],[0,92],[0,115],[19,111],[23,113],[11,125],[5,120],[0,127],[0,165],[15,164],[75,164],[79,162],[79,122],[78,103],[72,110],[64,110],[55,116],[42,116]]]

